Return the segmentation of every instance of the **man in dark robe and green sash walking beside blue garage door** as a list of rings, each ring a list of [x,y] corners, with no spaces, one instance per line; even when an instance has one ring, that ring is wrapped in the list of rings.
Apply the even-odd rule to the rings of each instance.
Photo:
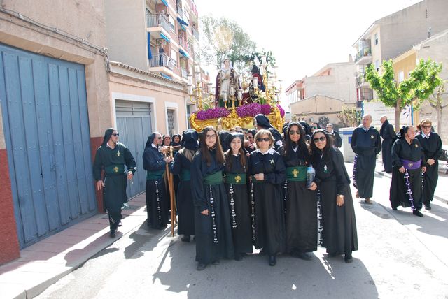
[[[120,220],[121,210],[127,203],[127,180],[132,180],[137,166],[131,152],[123,143],[118,142],[118,132],[110,128],[104,133],[104,140],[97,149],[93,163],[93,176],[97,181],[97,190],[103,191],[104,211],[109,214],[110,236],[114,238]],[[125,171],[125,165],[127,171]],[[104,179],[102,178],[104,170]]]

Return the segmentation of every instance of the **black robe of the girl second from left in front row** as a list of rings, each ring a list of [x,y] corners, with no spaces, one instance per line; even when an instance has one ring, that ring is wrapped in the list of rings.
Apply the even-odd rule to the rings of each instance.
[[[246,173],[248,168],[248,158],[246,158],[246,169],[241,165],[240,156],[235,156],[232,154],[229,159],[232,159],[232,167],[229,169],[225,168],[225,174],[232,173]],[[246,177],[247,178],[247,177]],[[252,252],[252,222],[251,222],[251,205],[248,196],[247,184],[231,184],[225,183],[225,189],[228,194],[228,201],[231,204],[232,194],[230,194],[230,187],[232,187],[233,192],[233,202],[235,203],[235,224],[237,227],[233,227],[233,221],[231,218],[230,223],[232,224],[232,235],[233,242],[235,245],[235,255],[241,253],[251,253]],[[230,214],[232,216],[232,205],[230,205]]]

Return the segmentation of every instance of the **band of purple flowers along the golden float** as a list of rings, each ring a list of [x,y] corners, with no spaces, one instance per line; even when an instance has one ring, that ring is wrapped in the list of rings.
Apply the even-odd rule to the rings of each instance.
[[[280,110],[280,115],[283,117],[285,115],[285,110],[281,108],[281,105],[277,105]],[[199,120],[215,119],[219,117],[227,117],[230,111],[224,107],[210,108],[205,111],[197,111],[196,118]],[[248,105],[241,105],[237,107],[237,115],[239,117],[254,117],[258,114],[269,115],[271,113],[271,106],[267,104],[261,105],[260,103],[251,103]]]

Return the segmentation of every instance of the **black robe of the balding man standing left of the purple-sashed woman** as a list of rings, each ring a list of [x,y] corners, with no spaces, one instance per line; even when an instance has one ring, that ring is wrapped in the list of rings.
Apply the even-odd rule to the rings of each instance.
[[[379,132],[373,126],[368,130],[360,126],[353,131],[350,145],[356,154],[353,186],[358,189],[360,198],[372,198],[377,154],[381,151]]]

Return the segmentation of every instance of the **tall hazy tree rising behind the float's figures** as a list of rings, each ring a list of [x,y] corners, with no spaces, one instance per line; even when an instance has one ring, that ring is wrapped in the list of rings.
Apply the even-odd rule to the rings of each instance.
[[[232,20],[225,17],[215,19],[211,16],[201,17],[202,50],[201,56],[206,64],[221,68],[226,57],[232,66],[242,73],[245,67],[244,57],[255,52],[255,42]]]

